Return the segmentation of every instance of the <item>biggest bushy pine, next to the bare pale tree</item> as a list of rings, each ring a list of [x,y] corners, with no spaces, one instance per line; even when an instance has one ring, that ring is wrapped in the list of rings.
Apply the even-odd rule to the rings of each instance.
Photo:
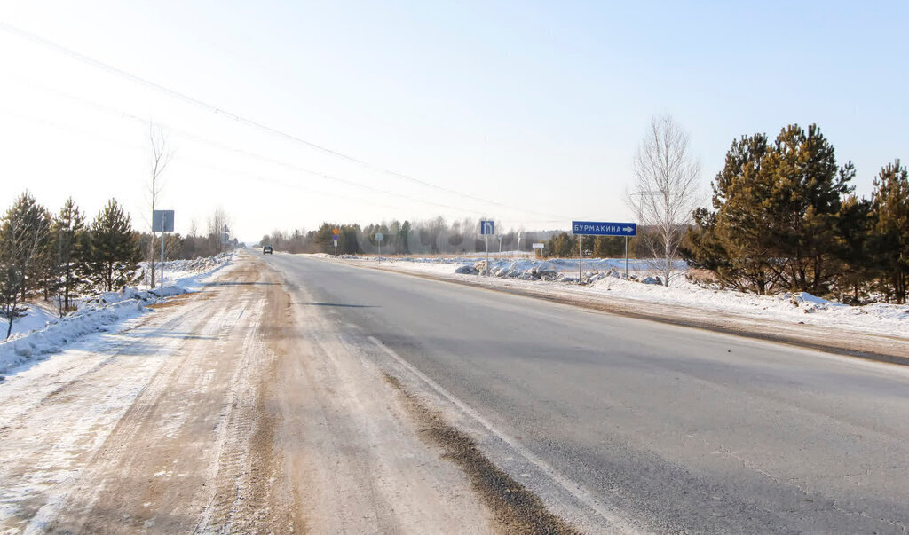
[[[826,293],[843,265],[839,220],[854,174],[852,163],[837,167],[814,124],[787,126],[774,144],[744,136],[712,183],[715,212],[695,217],[686,254],[741,289]]]

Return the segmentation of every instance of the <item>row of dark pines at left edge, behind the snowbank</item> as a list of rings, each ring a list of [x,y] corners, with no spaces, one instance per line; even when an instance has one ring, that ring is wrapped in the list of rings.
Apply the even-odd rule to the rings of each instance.
[[[0,220],[0,316],[6,337],[25,314],[26,300],[42,296],[70,311],[77,292],[111,291],[133,282],[141,253],[129,215],[111,199],[91,223],[67,199],[56,214],[28,192]]]

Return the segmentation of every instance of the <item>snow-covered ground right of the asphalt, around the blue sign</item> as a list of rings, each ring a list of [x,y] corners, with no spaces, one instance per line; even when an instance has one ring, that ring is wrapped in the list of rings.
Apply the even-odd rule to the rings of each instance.
[[[445,278],[472,281],[490,286],[526,286],[544,292],[603,296],[660,305],[727,313],[781,322],[842,327],[909,338],[909,305],[874,303],[849,306],[829,302],[806,292],[755,295],[731,290],[704,288],[677,276],[670,286],[624,280],[624,258],[584,259],[584,285],[577,284],[577,259],[498,259],[490,261],[493,276],[476,274],[475,266],[484,256],[391,258],[345,256],[345,260],[377,265],[399,271],[432,273]],[[638,281],[656,282],[652,261],[630,260],[629,274]],[[684,269],[684,263],[677,266]],[[460,272],[457,272],[460,271]]]

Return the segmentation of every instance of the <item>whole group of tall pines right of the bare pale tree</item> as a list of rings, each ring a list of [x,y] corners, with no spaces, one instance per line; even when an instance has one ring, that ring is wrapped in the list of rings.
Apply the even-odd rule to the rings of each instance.
[[[909,180],[896,160],[854,194],[851,162],[812,124],[735,140],[712,209],[694,211],[682,256],[742,292],[811,292],[842,302],[906,302]]]

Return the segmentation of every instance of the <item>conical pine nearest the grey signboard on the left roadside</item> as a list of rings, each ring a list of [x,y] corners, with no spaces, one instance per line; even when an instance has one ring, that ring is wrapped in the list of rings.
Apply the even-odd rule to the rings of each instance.
[[[111,199],[92,222],[89,265],[95,285],[106,292],[134,282],[142,254],[129,215]]]

